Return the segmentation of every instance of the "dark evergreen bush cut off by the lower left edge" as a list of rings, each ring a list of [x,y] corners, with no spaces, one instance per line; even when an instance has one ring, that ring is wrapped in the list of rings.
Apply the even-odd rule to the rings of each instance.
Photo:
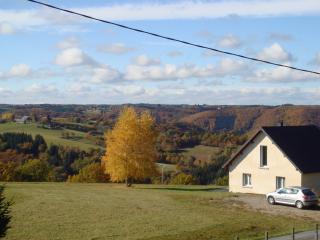
[[[0,186],[0,238],[6,235],[7,230],[10,228],[9,223],[11,220],[10,206],[12,203],[6,201],[4,189],[4,186]]]

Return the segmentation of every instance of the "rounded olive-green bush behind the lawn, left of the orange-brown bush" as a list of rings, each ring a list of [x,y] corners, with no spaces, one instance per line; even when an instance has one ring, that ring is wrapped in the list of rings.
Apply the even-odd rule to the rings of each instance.
[[[22,181],[43,182],[48,180],[48,163],[40,159],[28,160],[19,168]]]

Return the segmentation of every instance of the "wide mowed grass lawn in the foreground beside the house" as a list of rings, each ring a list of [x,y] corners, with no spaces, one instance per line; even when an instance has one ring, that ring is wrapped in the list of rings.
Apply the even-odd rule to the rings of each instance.
[[[12,228],[6,240],[263,239],[312,226],[232,202],[214,186],[8,183]]]

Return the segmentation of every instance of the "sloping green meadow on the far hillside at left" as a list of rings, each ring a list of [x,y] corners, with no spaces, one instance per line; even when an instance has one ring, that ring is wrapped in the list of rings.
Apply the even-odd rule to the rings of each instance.
[[[53,130],[53,129],[44,129],[38,128],[36,124],[20,124],[20,123],[4,123],[0,124],[0,133],[4,132],[23,132],[35,136],[36,134],[42,135],[48,144],[58,144],[70,147],[78,147],[80,149],[90,149],[90,148],[100,148],[98,145],[95,145],[93,142],[85,139],[85,133],[73,130],[66,130],[68,132],[73,132],[76,136],[75,139],[64,139],[61,137],[63,130]]]

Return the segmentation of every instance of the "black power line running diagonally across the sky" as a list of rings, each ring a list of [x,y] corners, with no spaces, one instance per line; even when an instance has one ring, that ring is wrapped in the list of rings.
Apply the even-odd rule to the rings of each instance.
[[[148,31],[145,31],[145,30],[142,30],[142,29],[129,27],[129,26],[122,25],[122,24],[119,24],[119,23],[103,20],[103,19],[100,19],[100,18],[95,18],[95,17],[89,16],[89,15],[86,15],[86,14],[83,14],[83,13],[71,11],[71,10],[68,10],[68,9],[64,9],[64,8],[57,7],[57,6],[54,6],[54,5],[50,5],[50,4],[43,3],[43,2],[39,2],[39,1],[36,1],[36,0],[27,0],[27,1],[39,4],[39,5],[42,5],[42,6],[46,6],[46,7],[52,8],[52,9],[56,9],[56,10],[60,10],[60,11],[63,11],[63,12],[67,12],[67,13],[70,13],[70,14],[73,14],[73,15],[78,15],[78,16],[81,16],[81,17],[84,17],[84,18],[88,18],[88,19],[91,19],[91,20],[95,20],[95,21],[107,23],[107,24],[110,24],[110,25],[114,25],[114,26],[117,26],[117,27],[120,27],[120,28],[124,28],[124,29],[127,29],[127,30],[131,30],[131,31],[135,31],[135,32],[151,35],[151,36],[154,36],[154,37],[166,39],[166,40],[169,40],[169,41],[174,41],[174,42],[182,43],[182,44],[185,44],[185,45],[189,45],[189,46],[193,46],[193,47],[197,47],[197,48],[202,48],[202,49],[206,49],[206,50],[209,50],[209,51],[214,51],[214,52],[218,52],[218,53],[222,53],[222,54],[226,54],[226,55],[231,55],[231,56],[234,56],[234,57],[244,58],[244,59],[251,60],[251,61],[261,62],[261,63],[274,65],[274,66],[278,66],[278,67],[284,67],[284,68],[293,69],[293,70],[296,70],[296,71],[301,71],[301,72],[307,72],[307,73],[320,75],[320,72],[316,72],[316,71],[313,71],[313,70],[308,70],[308,69],[303,69],[303,68],[298,68],[298,67],[292,67],[292,66],[285,65],[285,64],[266,61],[266,60],[259,59],[259,58],[249,57],[249,56],[237,54],[237,53],[234,53],[234,52],[223,51],[223,50],[219,50],[219,49],[216,49],[216,48],[211,48],[211,47],[207,47],[207,46],[204,46],[204,45],[199,45],[199,44],[196,44],[196,43],[192,43],[192,42],[188,42],[188,41],[184,41],[184,40],[180,40],[180,39],[176,39],[176,38],[172,38],[172,37],[167,37],[167,36],[160,35],[160,34],[157,34],[157,33],[148,32]]]

